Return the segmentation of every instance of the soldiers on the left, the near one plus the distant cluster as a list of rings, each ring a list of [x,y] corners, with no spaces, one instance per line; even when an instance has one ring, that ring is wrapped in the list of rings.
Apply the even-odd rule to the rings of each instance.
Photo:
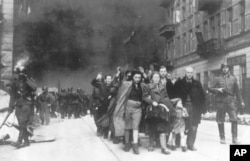
[[[24,72],[18,72],[17,77],[6,85],[6,91],[10,94],[9,114],[15,109],[15,115],[19,130],[17,142],[13,145],[17,148],[29,146],[31,125],[34,122],[34,115],[39,115],[42,125],[49,125],[51,117],[80,118],[85,116],[89,108],[89,97],[82,89],[69,88],[61,89],[58,93],[50,92],[48,87],[42,88],[42,93],[37,93],[37,87],[31,77]],[[8,115],[9,116],[9,115]]]

